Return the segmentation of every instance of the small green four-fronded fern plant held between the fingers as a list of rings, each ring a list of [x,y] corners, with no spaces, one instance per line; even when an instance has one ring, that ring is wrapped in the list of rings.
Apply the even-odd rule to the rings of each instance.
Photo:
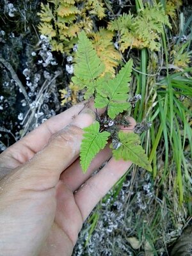
[[[100,61],[92,42],[84,31],[79,33],[76,65],[72,81],[84,89],[84,99],[94,98],[95,108],[106,108],[104,115],[84,129],[80,158],[83,172],[88,170],[93,157],[105,147],[109,140],[116,160],[132,161],[142,168],[151,171],[150,163],[140,138],[134,132],[123,132],[120,125],[129,126],[125,115],[131,109],[129,102],[129,82],[131,81],[132,60],[129,60],[116,77],[110,74],[102,76],[104,63]]]

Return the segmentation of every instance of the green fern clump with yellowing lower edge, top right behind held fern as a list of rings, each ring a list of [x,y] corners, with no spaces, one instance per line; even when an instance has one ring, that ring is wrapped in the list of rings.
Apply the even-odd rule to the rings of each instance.
[[[134,17],[132,13],[123,13],[116,20],[108,24],[108,29],[120,33],[120,50],[124,52],[128,47],[151,51],[159,51],[163,26],[171,27],[168,15],[161,3],[154,6],[146,4]]]

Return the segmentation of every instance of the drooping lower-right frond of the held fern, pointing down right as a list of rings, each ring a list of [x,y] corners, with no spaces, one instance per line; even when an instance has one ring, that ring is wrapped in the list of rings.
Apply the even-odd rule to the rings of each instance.
[[[116,160],[124,159],[124,161],[132,161],[132,163],[152,172],[152,167],[145,154],[145,150],[141,147],[140,137],[134,132],[118,132],[120,147],[113,150],[113,156]]]

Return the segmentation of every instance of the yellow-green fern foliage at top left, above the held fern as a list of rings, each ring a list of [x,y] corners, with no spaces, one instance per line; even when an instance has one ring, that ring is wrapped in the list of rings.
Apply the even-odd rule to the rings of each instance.
[[[52,51],[69,52],[77,42],[77,34],[84,29],[92,33],[93,20],[87,13],[98,19],[105,16],[104,3],[101,0],[48,0],[41,4],[38,13],[41,22],[40,33],[49,37]]]

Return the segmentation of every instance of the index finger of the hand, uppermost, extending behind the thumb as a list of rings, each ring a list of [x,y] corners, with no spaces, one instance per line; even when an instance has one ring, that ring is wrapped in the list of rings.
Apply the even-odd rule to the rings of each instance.
[[[0,157],[0,178],[4,174],[8,174],[12,169],[20,166],[20,164],[26,163],[36,152],[42,150],[48,143],[49,138],[51,138],[51,135],[70,124],[84,107],[85,103],[81,102],[63,113],[53,116],[35,130],[29,132],[24,138],[4,150]]]

